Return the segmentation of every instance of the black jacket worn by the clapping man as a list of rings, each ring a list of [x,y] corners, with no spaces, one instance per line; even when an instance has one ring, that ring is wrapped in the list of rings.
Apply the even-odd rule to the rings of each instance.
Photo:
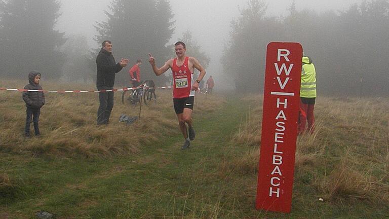
[[[112,53],[101,49],[96,58],[97,64],[97,89],[101,87],[113,87],[115,83],[115,74],[122,70],[119,63],[115,63]]]

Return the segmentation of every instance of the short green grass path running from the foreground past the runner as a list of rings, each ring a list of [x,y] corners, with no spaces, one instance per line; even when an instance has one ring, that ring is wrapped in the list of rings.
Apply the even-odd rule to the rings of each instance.
[[[388,218],[387,203],[318,201],[321,194],[309,181],[327,171],[326,165],[296,168],[291,214],[256,211],[252,160],[257,158],[248,156],[255,149],[230,140],[249,108],[249,101],[227,100],[216,112],[196,112],[197,136],[184,151],[177,126],[175,134],[133,156],[68,159],[0,152],[0,170],[15,185],[0,190],[0,219],[34,218],[39,210],[57,218]],[[326,153],[337,150],[328,147]]]

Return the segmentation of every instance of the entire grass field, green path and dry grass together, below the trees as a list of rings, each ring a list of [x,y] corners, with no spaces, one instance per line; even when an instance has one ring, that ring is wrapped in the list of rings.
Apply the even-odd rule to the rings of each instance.
[[[43,84],[93,89],[80,86]],[[21,94],[0,91],[0,218],[388,217],[389,99],[317,100],[316,132],[298,138],[292,212],[280,214],[254,207],[261,97],[199,95],[182,151],[170,92],[131,126],[118,118],[137,112],[115,94],[103,127],[97,94],[49,93],[42,137],[25,139]]]

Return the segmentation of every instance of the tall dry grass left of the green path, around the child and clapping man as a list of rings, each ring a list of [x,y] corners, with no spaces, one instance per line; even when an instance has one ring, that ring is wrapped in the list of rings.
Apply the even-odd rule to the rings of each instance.
[[[0,87],[23,88],[23,81],[2,81]],[[93,85],[41,82],[45,90],[94,90]],[[25,138],[25,103],[20,92],[0,91],[0,149],[14,153],[82,155],[105,157],[133,154],[146,144],[158,147],[158,139],[179,134],[178,122],[172,106],[171,90],[157,90],[158,103],[142,105],[141,119],[126,126],[119,123],[122,114],[138,116],[139,106],[121,103],[122,92],[115,93],[110,123],[96,126],[97,93],[46,93],[46,104],[41,109],[40,137]],[[211,112],[222,102],[215,96],[199,94],[193,116],[197,112]],[[31,133],[33,126],[31,124]]]

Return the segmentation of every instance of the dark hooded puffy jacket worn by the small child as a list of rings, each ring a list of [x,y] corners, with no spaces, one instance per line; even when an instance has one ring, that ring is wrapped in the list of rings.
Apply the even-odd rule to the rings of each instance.
[[[37,75],[41,75],[40,72],[31,71],[28,74],[29,84],[24,87],[27,90],[43,90],[41,85],[35,84],[34,78]],[[45,105],[45,93],[40,91],[24,91],[22,94],[24,102],[26,102],[27,107],[31,108],[41,108]]]

